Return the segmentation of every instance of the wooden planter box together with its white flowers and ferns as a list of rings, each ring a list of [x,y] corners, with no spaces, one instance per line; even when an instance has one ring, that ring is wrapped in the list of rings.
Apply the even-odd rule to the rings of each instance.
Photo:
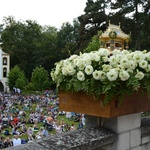
[[[59,89],[62,110],[109,118],[150,110],[150,52],[146,50],[110,52],[100,48],[72,55],[56,63],[51,77]],[[72,100],[75,102],[69,104]],[[93,104],[98,106],[96,113],[90,112],[95,109]]]

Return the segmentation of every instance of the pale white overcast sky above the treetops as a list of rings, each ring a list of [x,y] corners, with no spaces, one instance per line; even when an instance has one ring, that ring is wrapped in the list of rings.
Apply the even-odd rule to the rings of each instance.
[[[35,20],[40,25],[60,28],[81,14],[87,0],[0,0],[0,23],[3,17],[14,16],[15,20]]]

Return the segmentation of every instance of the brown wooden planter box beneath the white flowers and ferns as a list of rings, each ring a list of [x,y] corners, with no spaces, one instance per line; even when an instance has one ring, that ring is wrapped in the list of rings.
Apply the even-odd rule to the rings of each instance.
[[[70,93],[60,91],[59,109],[106,118],[150,110],[150,99],[148,99],[147,94],[133,93],[130,96],[126,96],[121,106],[118,106],[117,98],[110,101],[106,106],[103,106],[102,100],[103,98],[95,100],[92,96],[83,92]]]

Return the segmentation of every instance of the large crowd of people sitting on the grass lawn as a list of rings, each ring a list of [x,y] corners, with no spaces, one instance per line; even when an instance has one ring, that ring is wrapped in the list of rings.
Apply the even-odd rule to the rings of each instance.
[[[63,118],[57,119],[60,115],[78,122],[78,126],[74,123],[68,125]],[[45,91],[42,96],[0,94],[0,149],[47,137],[53,130],[54,134],[60,134],[84,125],[83,114],[59,111],[59,98],[55,91]],[[23,135],[27,138],[22,138]]]

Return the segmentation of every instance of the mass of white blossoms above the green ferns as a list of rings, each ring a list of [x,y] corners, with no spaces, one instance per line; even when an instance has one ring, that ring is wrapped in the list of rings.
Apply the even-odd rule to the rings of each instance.
[[[142,80],[150,72],[150,52],[127,50],[109,50],[100,48],[98,51],[72,55],[66,60],[56,63],[56,68],[51,72],[52,79],[61,82],[60,77],[74,76],[80,81],[85,81],[91,76],[100,81],[126,81],[131,75]],[[63,80],[63,79],[62,79]]]

